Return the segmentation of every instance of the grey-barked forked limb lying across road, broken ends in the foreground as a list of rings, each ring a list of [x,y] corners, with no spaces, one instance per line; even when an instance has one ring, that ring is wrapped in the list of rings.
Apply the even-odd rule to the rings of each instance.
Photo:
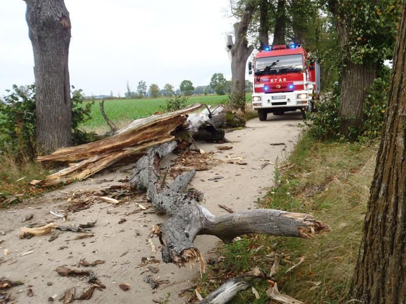
[[[146,189],[157,214],[170,218],[161,224],[160,241],[163,245],[162,260],[179,266],[204,261],[194,246],[196,235],[214,235],[224,243],[235,237],[264,233],[285,237],[311,238],[330,230],[312,215],[273,209],[257,209],[215,216],[198,204],[202,194],[195,190],[184,192],[195,171],[185,172],[170,184],[160,176],[159,164],[164,156],[176,147],[176,142],[167,142],[151,147],[136,165],[129,183],[137,189]]]

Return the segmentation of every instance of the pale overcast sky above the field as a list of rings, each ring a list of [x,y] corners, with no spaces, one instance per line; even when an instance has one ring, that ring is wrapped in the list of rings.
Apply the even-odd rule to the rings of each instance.
[[[72,22],[71,84],[86,95],[136,91],[140,80],[179,88],[231,77],[224,36],[227,0],[65,0]],[[0,96],[34,82],[25,2],[0,0]]]

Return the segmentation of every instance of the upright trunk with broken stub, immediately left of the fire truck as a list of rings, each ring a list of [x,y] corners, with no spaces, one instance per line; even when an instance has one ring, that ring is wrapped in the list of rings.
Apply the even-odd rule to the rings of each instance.
[[[239,22],[234,24],[234,42],[227,36],[225,50],[231,60],[231,105],[245,110],[245,69],[248,57],[254,50],[248,46],[247,30],[254,13],[254,5],[248,4]]]

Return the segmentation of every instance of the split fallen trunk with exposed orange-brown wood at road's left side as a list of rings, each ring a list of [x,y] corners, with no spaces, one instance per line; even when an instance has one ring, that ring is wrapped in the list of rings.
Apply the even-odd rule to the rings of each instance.
[[[100,107],[103,108],[101,104]],[[44,180],[33,180],[31,184],[49,186],[74,179],[85,179],[125,157],[142,155],[150,146],[172,141],[177,136],[181,138],[182,132],[185,131],[208,141],[225,141],[224,131],[218,129],[224,125],[225,108],[217,106],[214,110],[210,110],[210,107],[207,107],[199,114],[191,113],[200,107],[201,105],[197,104],[179,111],[137,119],[127,127],[114,132],[111,137],[61,148],[51,155],[41,156],[38,158],[40,162],[80,162],[70,164],[68,168],[48,175]],[[191,114],[187,116],[188,113]],[[186,137],[188,141],[190,135]],[[184,136],[182,140],[185,140]]]

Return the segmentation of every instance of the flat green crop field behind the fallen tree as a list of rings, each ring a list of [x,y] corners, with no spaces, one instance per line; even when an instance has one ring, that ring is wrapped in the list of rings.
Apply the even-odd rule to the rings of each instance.
[[[118,127],[122,127],[129,121],[134,119],[147,117],[155,113],[156,111],[163,111],[161,108],[165,105],[166,98],[144,98],[144,99],[113,99],[105,101],[105,112],[107,116]],[[191,96],[188,100],[188,104],[193,103],[206,103],[217,105],[220,103],[226,103],[228,100],[227,95],[201,95]],[[251,93],[247,93],[247,101],[251,100]],[[108,129],[106,122],[100,113],[99,101],[96,100],[91,108],[91,119],[84,122],[81,127],[86,131],[104,131]]]

